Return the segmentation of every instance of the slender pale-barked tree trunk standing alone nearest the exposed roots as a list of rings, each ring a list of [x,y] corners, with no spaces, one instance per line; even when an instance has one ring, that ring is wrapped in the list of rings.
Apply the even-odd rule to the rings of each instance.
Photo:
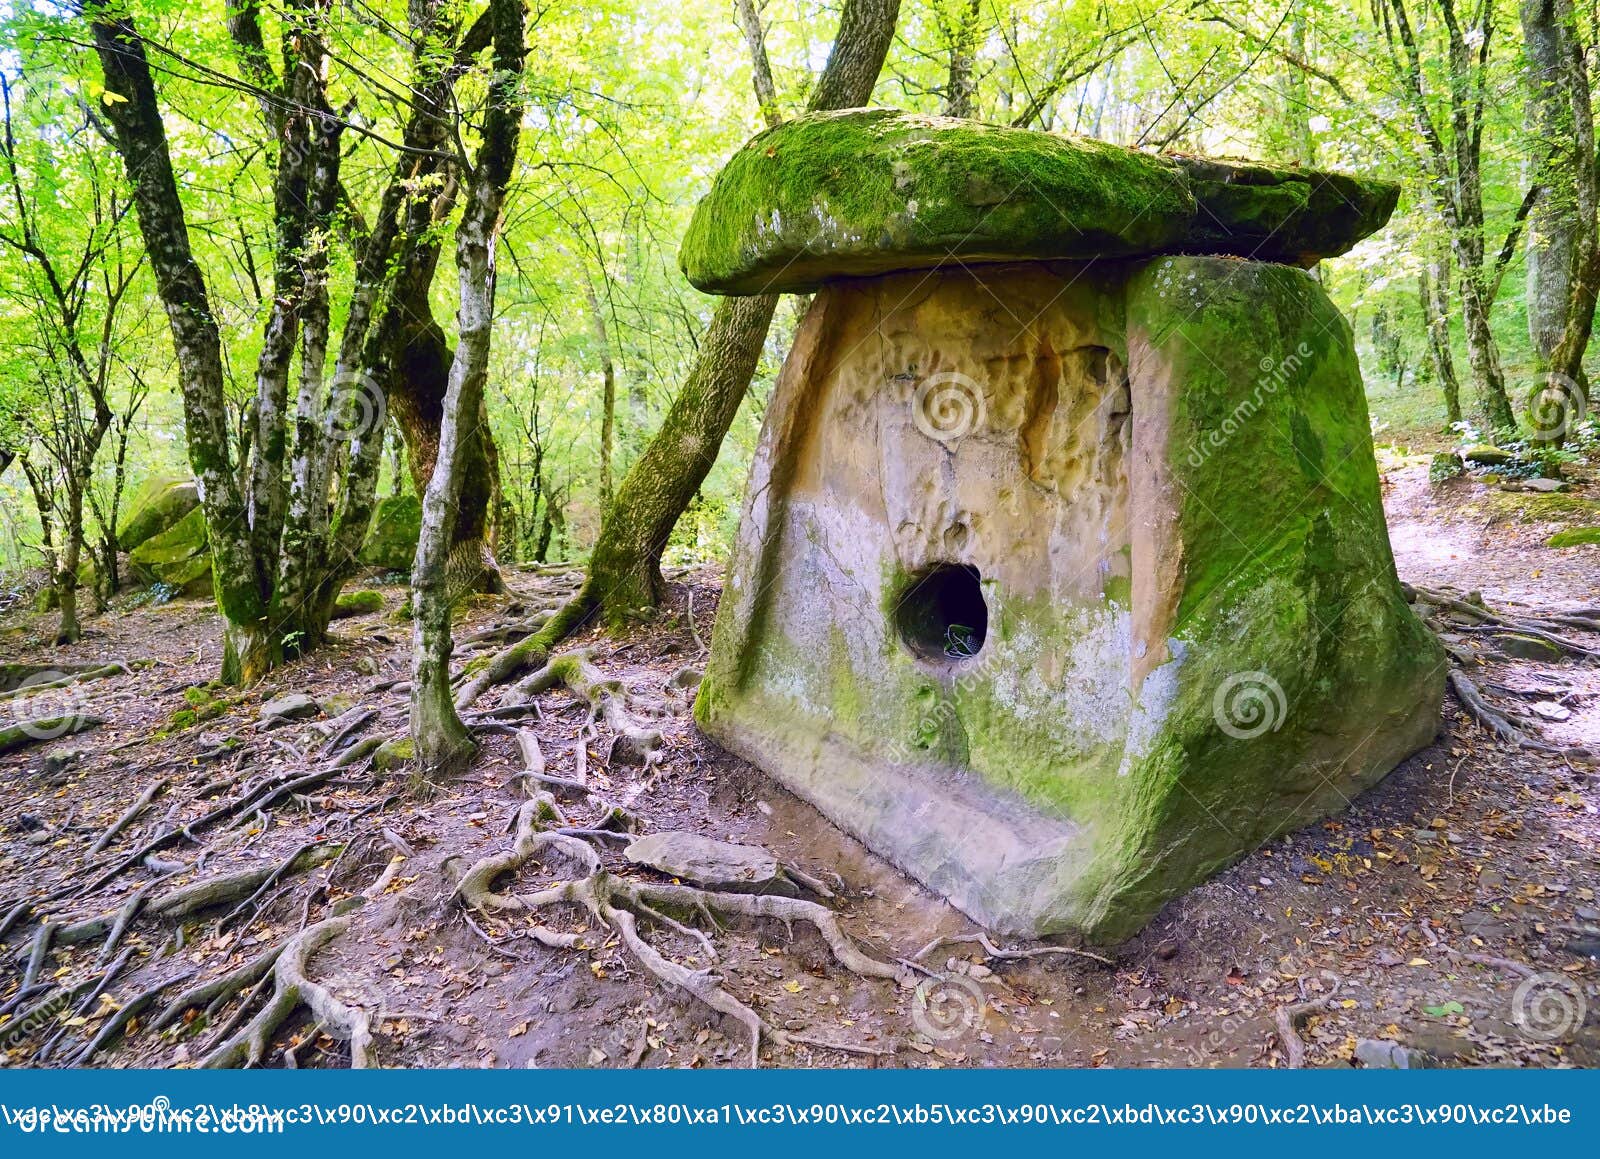
[[[462,451],[483,410],[490,338],[494,325],[494,243],[506,186],[517,160],[522,123],[522,0],[490,0],[494,70],[490,78],[483,144],[456,229],[461,307],[459,338],[450,365],[440,421],[438,458],[422,496],[422,533],[411,568],[411,740],[419,775],[437,780],[470,759],[477,748],[450,692],[450,589],[446,560],[464,483]]]

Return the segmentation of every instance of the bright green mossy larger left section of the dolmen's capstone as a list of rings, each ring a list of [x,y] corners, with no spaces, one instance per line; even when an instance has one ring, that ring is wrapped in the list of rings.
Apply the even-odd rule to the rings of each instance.
[[[811,114],[733,155],[683,239],[717,293],[957,258],[1093,258],[1173,245],[1194,197],[1171,162],[1088,138],[893,109]]]

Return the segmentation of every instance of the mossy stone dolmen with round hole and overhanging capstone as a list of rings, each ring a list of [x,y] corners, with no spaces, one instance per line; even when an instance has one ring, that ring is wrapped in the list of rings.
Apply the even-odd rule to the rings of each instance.
[[[1426,746],[1350,328],[1397,187],[893,110],[730,160],[712,293],[816,290],[701,727],[1019,935],[1136,932]]]

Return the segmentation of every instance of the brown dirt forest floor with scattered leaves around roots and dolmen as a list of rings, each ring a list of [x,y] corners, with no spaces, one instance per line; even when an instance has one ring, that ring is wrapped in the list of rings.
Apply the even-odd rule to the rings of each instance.
[[[1549,527],[1507,517],[1491,488],[1462,479],[1430,488],[1422,459],[1394,459],[1386,477],[1402,578],[1491,607],[1538,610],[1600,604],[1600,546],[1542,546]],[[1597,488],[1589,483],[1594,493]],[[482,599],[458,629],[506,623],[515,605],[555,599],[570,575],[509,576],[512,596]],[[98,728],[0,757],[0,903],[51,898],[19,917],[0,956],[0,1049],[11,1066],[192,1065],[237,1023],[240,993],[214,1013],[157,1029],[181,986],[219,977],[342,898],[366,890],[392,860],[397,874],[357,909],[350,928],[312,959],[310,973],[374,1018],[386,1066],[742,1066],[742,1026],[664,986],[582,911],[541,920],[589,935],[587,948],[546,948],[531,919],[507,912],[464,920],[453,868],[509,847],[523,799],[515,741],[488,735],[470,772],[418,800],[405,772],[352,765],[301,796],[213,824],[208,810],[267,775],[315,770],[326,720],[370,706],[362,735],[405,725],[410,628],[394,612],[400,586],[381,586],[384,610],[336,624],[331,647],[274,674],[262,687],[197,693],[219,661],[218,618],[198,602],[162,607],[128,597],[93,618],[72,660],[120,660],[131,672],[75,685],[74,709]],[[658,623],[627,639],[581,637],[606,676],[662,695],[672,674],[704,655],[717,600],[710,570],[678,576]],[[61,660],[48,616],[0,618],[0,660]],[[1584,639],[1600,648],[1594,634]],[[1541,704],[1544,738],[1600,749],[1600,668],[1494,656],[1482,637],[1474,674],[1496,704]],[[470,658],[462,656],[462,660]],[[258,711],[290,693],[320,714],[261,728]],[[480,708],[510,700],[488,693]],[[586,706],[566,692],[541,695],[536,728],[549,772],[574,772]],[[1549,708],[1554,706],[1554,708]],[[6,704],[0,704],[5,709]],[[194,719],[208,717],[208,719]],[[824,821],[758,770],[722,752],[680,712],[653,722],[666,760],[632,810],[646,832],[688,829],[760,845],[779,861],[834,884],[829,904],[870,956],[910,959],[931,940],[974,927]],[[629,794],[638,770],[605,760],[605,730],[586,764],[597,796]],[[64,754],[77,752],[74,759]],[[54,759],[51,759],[54,754]],[[808,927],[725,924],[710,935],[717,960],[682,928],[648,936],[790,1036],[766,1044],[773,1066],[1282,1066],[1304,1045],[1307,1066],[1565,1066],[1600,1063],[1600,786],[1594,764],[1507,748],[1446,701],[1438,741],[1405,762],[1344,815],[1258,848],[1214,880],[1173,901],[1133,941],[1078,954],[986,957],[971,943],[930,954],[915,985],[843,970]],[[102,852],[98,837],[166,778],[166,789]],[[576,826],[600,807],[563,797]],[[182,826],[194,826],[190,834]],[[154,863],[104,876],[149,839],[179,837]],[[270,868],[307,842],[341,855],[307,874],[274,880],[242,912],[216,909],[166,920],[144,912],[123,948],[134,952],[93,1002],[46,1010],[30,1025],[18,986],[35,957],[42,920],[62,928],[110,914],[157,871],[155,888],[248,868]],[[629,868],[616,842],[605,863],[626,879],[666,880]],[[552,879],[530,864],[530,892]],[[85,887],[93,887],[85,890]],[[1011,948],[1006,943],[1006,948]],[[1038,949],[1038,946],[1021,946]],[[35,991],[72,988],[104,972],[101,941],[50,946]],[[192,977],[190,977],[192,975]],[[125,1037],[85,1047],[152,986],[174,981]],[[43,993],[48,996],[48,986]],[[243,1001],[250,1001],[245,997]],[[1291,1034],[1280,1029],[1286,1023]],[[115,1028],[114,1028],[115,1029]],[[45,1057],[40,1052],[50,1044]],[[834,1045],[837,1044],[837,1045]],[[349,1049],[301,1010],[267,1044],[267,1066],[344,1066]]]

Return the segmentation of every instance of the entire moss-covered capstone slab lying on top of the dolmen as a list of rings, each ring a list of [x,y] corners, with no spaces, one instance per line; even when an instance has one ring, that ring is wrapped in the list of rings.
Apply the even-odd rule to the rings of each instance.
[[[694,210],[680,266],[723,295],[1008,259],[1229,253],[1309,266],[1379,229],[1398,186],[894,109],[749,141]]]

